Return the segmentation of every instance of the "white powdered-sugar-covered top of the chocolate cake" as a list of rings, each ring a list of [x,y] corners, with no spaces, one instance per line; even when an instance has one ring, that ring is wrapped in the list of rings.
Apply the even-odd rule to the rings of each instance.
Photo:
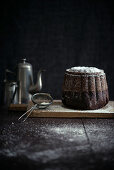
[[[66,70],[67,72],[72,73],[81,73],[81,74],[96,74],[96,73],[104,73],[103,70],[98,69],[96,67],[84,67],[84,66],[78,66],[78,67],[72,67],[70,69]]]

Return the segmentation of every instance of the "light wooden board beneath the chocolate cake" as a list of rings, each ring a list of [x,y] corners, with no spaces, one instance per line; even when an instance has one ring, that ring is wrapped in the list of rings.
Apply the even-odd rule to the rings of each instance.
[[[27,110],[33,106],[28,104]],[[60,100],[55,100],[47,109],[36,109],[30,117],[63,117],[63,118],[114,118],[114,101],[98,110],[74,110],[63,106]]]

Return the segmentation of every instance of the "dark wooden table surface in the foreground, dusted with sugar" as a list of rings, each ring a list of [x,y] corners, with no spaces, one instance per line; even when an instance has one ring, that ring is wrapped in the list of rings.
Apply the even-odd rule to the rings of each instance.
[[[17,122],[21,114],[0,113],[0,169],[114,169],[114,119]]]

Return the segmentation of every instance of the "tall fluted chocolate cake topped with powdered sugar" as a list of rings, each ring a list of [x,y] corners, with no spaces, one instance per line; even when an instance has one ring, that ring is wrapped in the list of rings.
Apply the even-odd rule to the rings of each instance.
[[[99,109],[109,101],[106,75],[95,67],[72,67],[64,75],[62,102],[73,109]]]

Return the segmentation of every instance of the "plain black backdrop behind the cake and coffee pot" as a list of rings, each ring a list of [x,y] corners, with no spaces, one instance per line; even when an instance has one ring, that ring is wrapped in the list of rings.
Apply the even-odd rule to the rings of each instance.
[[[45,68],[42,92],[59,99],[66,68],[96,66],[107,74],[114,100],[114,15],[110,0],[4,1],[0,19],[0,94],[4,70],[26,56]]]

